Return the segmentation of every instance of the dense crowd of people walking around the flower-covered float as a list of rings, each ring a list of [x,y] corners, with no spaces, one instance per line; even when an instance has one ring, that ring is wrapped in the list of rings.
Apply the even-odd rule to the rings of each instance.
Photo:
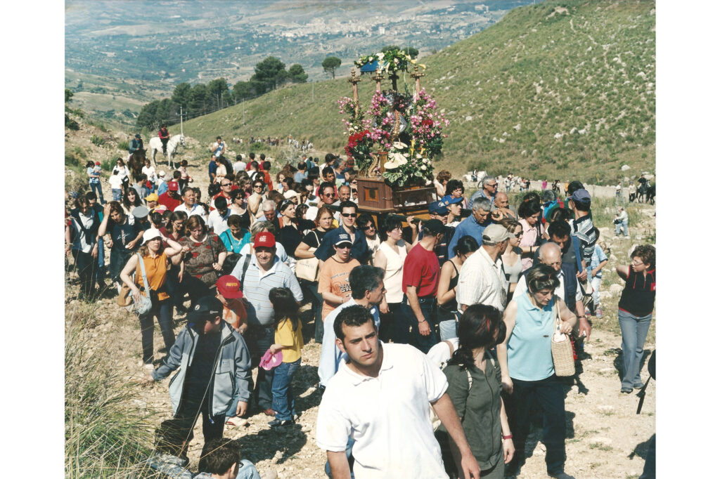
[[[214,450],[224,447],[215,442],[225,424],[249,414],[269,416],[271,428],[296,421],[299,311],[310,303],[305,323],[322,345],[315,432],[330,477],[514,475],[535,411],[547,472],[571,477],[565,382],[549,338],[557,321],[582,359],[588,316],[602,315],[608,262],[582,183],[569,182],[564,197],[555,188],[526,191],[511,205],[499,191],[503,178],[481,178],[467,198],[443,170],[429,219],[389,214],[377,224],[359,208],[351,160],[302,155],[272,176],[264,155],[231,163],[220,137],[211,151],[205,192],[191,186],[185,161],[167,178],[148,163],[143,174],[152,179],[132,183],[118,158],[112,201],[89,164],[91,191],[66,212],[79,297],[96,298],[99,286],[137,311],[148,383],[179,370],[169,386],[174,419],[163,423],[176,438],[172,456],[186,460],[199,416]],[[617,268],[626,281],[623,393],[642,386],[655,288],[654,247],[631,256]],[[174,321],[184,322],[177,337]],[[231,459],[215,470],[243,464]]]

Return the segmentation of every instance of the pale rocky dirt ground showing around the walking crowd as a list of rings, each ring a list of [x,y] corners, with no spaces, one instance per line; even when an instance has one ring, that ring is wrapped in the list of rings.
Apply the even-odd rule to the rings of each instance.
[[[194,145],[199,147],[199,145]],[[204,167],[194,162],[194,175],[201,188],[207,188]],[[159,169],[159,168],[158,168]],[[202,184],[204,183],[204,184]],[[104,185],[106,189],[107,185]],[[106,196],[107,197],[107,196]],[[112,197],[112,196],[111,196]],[[634,245],[654,242],[654,206],[631,206],[635,211],[636,224],[631,224],[631,237],[613,238],[610,224],[600,224],[603,239],[611,247],[610,263],[603,278],[602,303],[605,317],[593,320],[594,329],[586,343],[587,357],[582,361],[583,372],[580,381],[567,388],[567,473],[578,478],[636,478],[642,473],[647,442],[655,432],[655,384],[651,381],[642,414],[635,414],[638,398],[635,394],[620,393],[619,371],[622,353],[621,337],[617,325],[616,304],[621,291],[614,267],[629,264],[629,252]],[[610,213],[610,211],[606,211]],[[106,256],[107,257],[107,256]],[[71,276],[72,280],[72,276]],[[74,298],[76,286],[67,288],[66,316],[70,319],[74,311],[85,308]],[[120,309],[109,293],[94,305],[96,324],[89,332],[89,347],[107,350],[114,357],[114,368],[122,371],[128,387],[134,388],[134,406],[152,414],[152,424],[160,424],[171,417],[168,396],[168,381],[140,386],[138,381],[144,371],[140,361],[140,328],[136,316]],[[307,310],[305,311],[307,314]],[[654,321],[655,322],[655,321]],[[180,332],[184,321],[176,317],[175,332]],[[325,453],[315,445],[315,420],[320,403],[317,389],[317,365],[320,359],[320,345],[310,339],[314,324],[305,321],[303,332],[305,347],[302,351],[302,366],[294,378],[297,397],[297,424],[279,429],[270,429],[264,414],[254,414],[247,424],[226,427],[225,436],[237,439],[243,457],[253,461],[262,475],[276,471],[279,478],[323,478]],[[158,348],[162,338],[156,327],[156,357],[162,357]],[[646,360],[654,350],[654,323],[645,345]],[[642,378],[647,378],[644,365]],[[193,470],[197,468],[202,446],[202,425],[195,428],[196,439],[189,451]],[[528,459],[521,471],[521,478],[546,477],[544,466],[544,445],[539,442],[538,432],[531,434],[526,444]]]

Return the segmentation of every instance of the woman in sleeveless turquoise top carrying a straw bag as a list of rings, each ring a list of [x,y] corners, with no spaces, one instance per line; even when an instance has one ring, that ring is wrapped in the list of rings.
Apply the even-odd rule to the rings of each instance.
[[[498,362],[503,390],[508,394],[508,419],[517,454],[505,475],[516,475],[525,462],[525,439],[530,429],[531,409],[543,414],[542,442],[546,447],[545,464],[551,477],[564,475],[565,395],[555,375],[550,352],[554,332],[555,309],[560,332],[569,334],[577,321],[564,301],[556,301],[554,291],[560,285],[557,273],[548,265],[537,265],[526,275],[528,292],[513,297],[503,321],[505,341],[498,345]]]

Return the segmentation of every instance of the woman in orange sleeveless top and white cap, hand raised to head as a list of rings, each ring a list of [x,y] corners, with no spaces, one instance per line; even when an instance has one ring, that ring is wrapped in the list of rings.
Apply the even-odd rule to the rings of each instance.
[[[166,246],[167,245],[167,246]],[[135,301],[140,299],[141,288],[150,293],[153,307],[145,314],[140,314],[140,332],[143,336],[143,363],[148,370],[153,369],[153,316],[158,318],[160,330],[163,333],[166,352],[175,342],[172,328],[173,306],[170,296],[165,291],[165,279],[168,270],[168,258],[179,254],[183,247],[170,238],[163,237],[158,229],[150,228],[143,233],[143,246],[137,255],[132,255],[127,265],[120,273],[120,279],[132,291]],[[143,272],[138,258],[143,258],[145,276],[148,278],[149,288],[144,284]],[[135,272],[135,280],[130,274]]]

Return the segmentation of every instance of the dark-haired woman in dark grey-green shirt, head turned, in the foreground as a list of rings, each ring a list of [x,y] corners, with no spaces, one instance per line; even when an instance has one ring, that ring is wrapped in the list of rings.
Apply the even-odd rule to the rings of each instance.
[[[447,393],[462,418],[462,429],[482,478],[502,479],[505,464],[515,453],[505,404],[500,397],[502,375],[492,350],[505,339],[503,315],[492,306],[473,304],[465,309],[457,327],[459,347],[444,373]],[[450,444],[462,478],[460,454]]]

